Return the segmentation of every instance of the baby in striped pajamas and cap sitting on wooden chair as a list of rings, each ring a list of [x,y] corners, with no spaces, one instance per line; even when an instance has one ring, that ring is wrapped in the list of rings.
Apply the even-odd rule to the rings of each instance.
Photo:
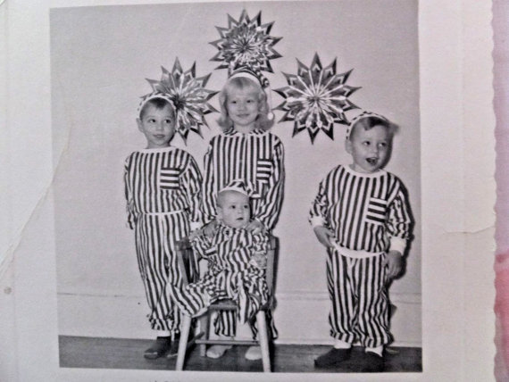
[[[238,321],[249,323],[268,302],[265,267],[268,236],[247,230],[249,196],[244,187],[225,187],[218,195],[219,226],[212,237],[193,237],[195,253],[208,262],[200,280],[184,288],[169,285],[169,294],[188,316],[200,316],[214,302],[231,298],[238,303]],[[229,346],[231,347],[231,346]]]

